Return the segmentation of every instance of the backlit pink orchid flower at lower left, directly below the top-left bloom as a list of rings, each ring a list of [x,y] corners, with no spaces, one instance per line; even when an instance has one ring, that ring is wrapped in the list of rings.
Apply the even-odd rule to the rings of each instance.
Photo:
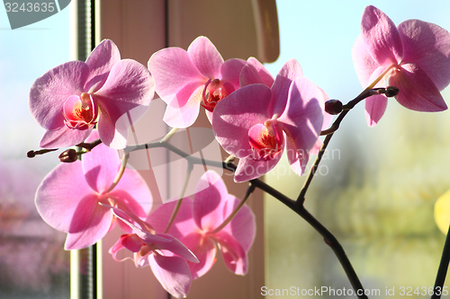
[[[87,140],[96,138],[94,130]],[[137,171],[126,169],[109,190],[120,166],[117,151],[100,144],[84,154],[83,161],[59,164],[40,183],[36,207],[45,222],[67,233],[66,250],[93,245],[112,229],[115,217],[99,203],[113,203],[142,218],[147,215],[152,198]],[[129,229],[125,224],[121,227]]]

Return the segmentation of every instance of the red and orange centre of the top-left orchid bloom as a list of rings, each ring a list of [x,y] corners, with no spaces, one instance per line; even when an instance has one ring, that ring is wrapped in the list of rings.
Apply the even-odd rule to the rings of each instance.
[[[98,116],[98,107],[89,93],[80,96],[71,95],[64,103],[64,123],[68,128],[84,130],[95,125]]]

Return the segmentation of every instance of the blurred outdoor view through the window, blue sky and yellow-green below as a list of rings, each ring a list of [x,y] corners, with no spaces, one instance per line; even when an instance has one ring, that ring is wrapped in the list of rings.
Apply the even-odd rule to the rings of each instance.
[[[363,90],[351,48],[365,5],[374,4],[396,24],[417,18],[450,29],[446,0],[276,4],[281,51],[275,63],[266,65],[269,71],[275,76],[286,60],[295,57],[305,76],[343,102]],[[40,180],[58,163],[58,154],[25,157],[38,149],[44,133],[28,110],[29,88],[51,67],[70,59],[69,22],[67,9],[12,31],[0,7],[2,299],[69,297],[65,234],[43,223],[33,202]],[[450,100],[448,89],[443,95]],[[434,285],[445,236],[437,230],[433,209],[437,198],[450,189],[449,133],[448,111],[419,113],[392,99],[379,124],[368,128],[360,104],[333,137],[311,184],[306,207],[336,234],[363,285],[381,290],[380,297],[386,288],[394,287],[398,295],[401,286]],[[285,159],[266,175],[270,185],[291,198],[297,197],[303,180],[290,171]],[[268,289],[350,287],[320,235],[270,197],[265,198],[265,242]]]

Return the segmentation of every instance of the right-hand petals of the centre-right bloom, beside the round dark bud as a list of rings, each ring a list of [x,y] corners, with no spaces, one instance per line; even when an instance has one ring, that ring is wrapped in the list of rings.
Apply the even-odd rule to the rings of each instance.
[[[288,160],[294,171],[302,174],[311,148],[316,144],[323,125],[323,92],[309,79],[299,76],[292,84],[286,109],[278,119],[284,124]],[[291,142],[292,140],[292,142]]]

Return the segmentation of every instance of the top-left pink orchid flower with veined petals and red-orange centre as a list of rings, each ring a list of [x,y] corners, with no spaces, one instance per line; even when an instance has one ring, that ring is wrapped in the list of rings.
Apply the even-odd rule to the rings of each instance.
[[[85,62],[56,66],[32,84],[31,114],[47,130],[40,147],[77,145],[97,124],[104,145],[124,148],[128,128],[148,110],[154,92],[148,69],[121,60],[112,40],[103,40]]]

